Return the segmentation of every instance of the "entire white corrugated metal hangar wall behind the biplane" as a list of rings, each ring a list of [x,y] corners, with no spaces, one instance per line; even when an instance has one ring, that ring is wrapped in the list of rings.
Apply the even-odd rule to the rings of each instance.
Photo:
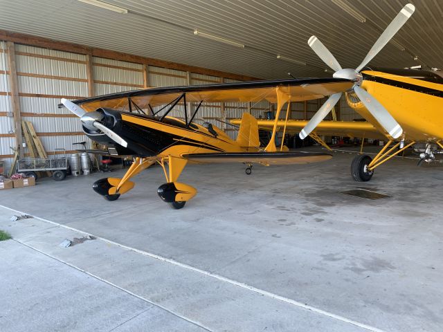
[[[10,147],[15,146],[14,122],[10,105],[9,77],[6,43],[0,42],[0,156],[6,160],[7,167],[13,154]],[[87,97],[88,77],[87,55],[62,52],[25,45],[15,45],[17,80],[19,85],[19,102],[22,120],[30,121],[37,131],[37,136],[48,154],[57,149],[71,151],[73,142],[88,139],[82,133],[78,118],[66,109],[58,109],[60,98],[77,99]],[[141,89],[145,86],[186,86],[188,84],[215,84],[239,82],[222,77],[187,73],[169,68],[146,66],[102,57],[92,57],[92,77],[94,95],[116,93]],[[145,72],[146,71],[146,72]],[[318,110],[325,99],[291,104],[291,119],[309,119]],[[197,107],[197,103],[188,104],[188,116]],[[280,118],[286,116],[286,105]],[[159,109],[159,108],[157,108]],[[341,100],[341,120],[361,118],[350,107],[344,98]],[[231,138],[236,138],[237,129],[225,124],[233,118],[241,118],[245,111],[256,118],[266,118],[267,111],[275,106],[267,101],[244,103],[204,103],[201,104],[196,120],[208,121],[226,130]],[[183,118],[183,103],[178,104],[170,116]],[[221,120],[221,121],[220,121]],[[89,144],[88,144],[89,145]],[[25,149],[25,153],[27,153]]]

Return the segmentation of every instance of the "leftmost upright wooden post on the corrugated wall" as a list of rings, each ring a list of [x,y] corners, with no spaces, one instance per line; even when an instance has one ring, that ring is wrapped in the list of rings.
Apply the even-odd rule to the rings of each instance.
[[[15,46],[13,42],[6,42],[6,49],[8,50],[8,65],[9,65],[9,84],[11,95],[12,115],[14,116],[14,133],[15,133],[15,147],[19,157],[23,157],[23,148],[21,147],[21,115],[20,115],[20,100],[19,100],[19,83],[17,81],[17,67],[15,66]]]

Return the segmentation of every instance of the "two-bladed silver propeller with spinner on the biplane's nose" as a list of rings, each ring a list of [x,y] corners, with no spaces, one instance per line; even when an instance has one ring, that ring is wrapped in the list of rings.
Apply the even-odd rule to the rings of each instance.
[[[127,142],[123,138],[118,136],[117,133],[115,133],[114,131],[106,127],[105,124],[102,124],[102,122],[100,122],[104,118],[102,113],[84,111],[84,109],[82,109],[77,104],[74,104],[70,100],[64,98],[62,98],[62,104],[64,104],[64,107],[66,107],[66,109],[69,109],[69,111],[80,118],[84,127],[95,131],[98,129],[102,131],[102,133],[105,133],[106,136],[111,138],[111,140],[114,140],[114,142],[123,147],[127,147]]]

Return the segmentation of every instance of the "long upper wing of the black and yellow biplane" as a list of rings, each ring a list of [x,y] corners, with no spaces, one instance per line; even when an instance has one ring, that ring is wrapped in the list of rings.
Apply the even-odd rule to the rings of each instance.
[[[314,100],[327,95],[347,91],[354,80],[343,78],[307,78],[301,80],[264,80],[195,86],[147,88],[122,93],[111,93],[93,98],[74,100],[86,111],[109,107],[128,111],[133,103],[140,109],[171,104],[186,95],[186,102],[298,102]],[[62,107],[63,105],[59,105]]]

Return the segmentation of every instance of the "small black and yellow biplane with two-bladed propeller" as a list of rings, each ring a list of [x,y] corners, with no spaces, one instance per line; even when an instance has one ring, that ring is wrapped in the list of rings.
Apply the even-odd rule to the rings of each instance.
[[[314,78],[174,86],[141,89],[102,95],[84,100],[62,100],[62,105],[82,121],[84,133],[107,146],[110,156],[132,156],[134,163],[123,178],[103,178],[93,190],[109,201],[134,187],[130,178],[153,163],[163,167],[166,183],[158,189],[163,201],[182,208],[197,194],[178,179],[187,163],[244,163],[251,173],[254,163],[282,165],[314,163],[332,158],[330,154],[287,151],[275,147],[275,132],[266,147],[260,147],[257,119],[244,113],[236,140],[208,122],[197,124],[195,117],[204,102],[260,102],[278,105],[323,98],[351,89],[353,79]],[[188,103],[198,106],[192,112]],[[60,106],[62,106],[60,105]],[[168,116],[183,109],[183,118]],[[91,151],[94,152],[94,151]]]

